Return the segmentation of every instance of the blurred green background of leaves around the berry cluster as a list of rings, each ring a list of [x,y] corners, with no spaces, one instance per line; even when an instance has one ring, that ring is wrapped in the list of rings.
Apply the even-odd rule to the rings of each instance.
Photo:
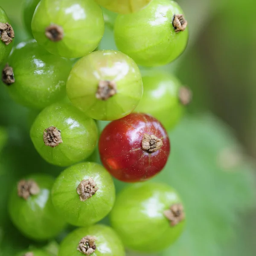
[[[28,38],[22,28],[22,2],[0,0],[12,20],[16,44]],[[187,228],[174,245],[157,255],[255,256],[256,2],[177,2],[189,21],[189,45],[177,61],[162,69],[175,73],[194,97],[186,117],[169,131],[172,154],[154,180],[180,192]],[[100,48],[115,49],[109,20]],[[55,255],[54,242],[24,239],[6,212],[9,189],[24,174],[56,176],[61,171],[41,160],[32,146],[28,132],[35,115],[12,102],[0,84],[0,256],[15,255],[31,244],[47,246]],[[117,191],[123,186],[116,181]]]

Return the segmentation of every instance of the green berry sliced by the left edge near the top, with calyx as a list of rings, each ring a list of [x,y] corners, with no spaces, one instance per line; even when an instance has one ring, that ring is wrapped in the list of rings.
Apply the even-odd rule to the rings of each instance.
[[[0,7],[0,64],[6,60],[13,46],[15,33],[5,11]]]

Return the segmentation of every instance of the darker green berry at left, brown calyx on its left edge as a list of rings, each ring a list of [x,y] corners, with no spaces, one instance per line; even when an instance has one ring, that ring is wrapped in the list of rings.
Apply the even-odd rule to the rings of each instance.
[[[20,43],[2,71],[12,98],[21,105],[42,109],[65,96],[72,62],[49,54],[35,41]]]

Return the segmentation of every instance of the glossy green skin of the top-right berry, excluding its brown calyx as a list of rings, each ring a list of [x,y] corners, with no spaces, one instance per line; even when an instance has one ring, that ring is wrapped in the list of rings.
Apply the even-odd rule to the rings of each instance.
[[[183,14],[171,0],[153,0],[146,8],[118,15],[114,25],[117,48],[142,66],[161,66],[174,61],[186,48],[188,28],[175,32],[175,14]]]

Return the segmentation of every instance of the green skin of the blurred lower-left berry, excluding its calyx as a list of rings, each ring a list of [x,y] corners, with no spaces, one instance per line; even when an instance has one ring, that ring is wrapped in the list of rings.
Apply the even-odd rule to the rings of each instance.
[[[17,185],[9,198],[9,214],[12,222],[25,236],[34,240],[54,238],[65,227],[65,221],[56,212],[50,197],[53,177],[33,174],[26,179],[34,180],[39,188],[38,195],[30,195],[27,200],[17,195]]]

